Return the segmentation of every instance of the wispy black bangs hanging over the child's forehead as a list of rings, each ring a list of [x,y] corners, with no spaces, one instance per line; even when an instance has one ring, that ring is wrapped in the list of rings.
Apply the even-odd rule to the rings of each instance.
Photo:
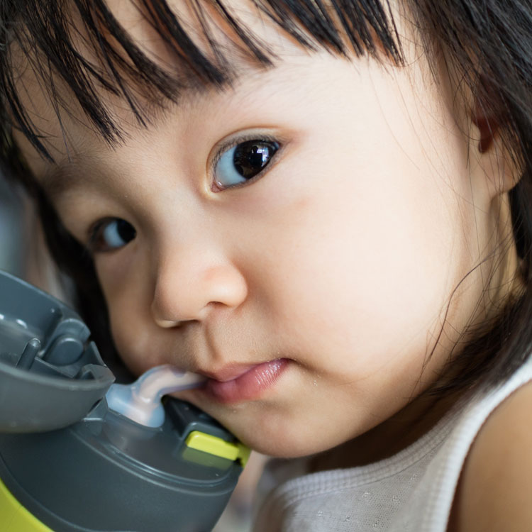
[[[0,77],[3,149],[11,145],[8,124],[28,138],[43,157],[45,135],[25,109],[13,50],[21,52],[52,102],[57,120],[72,112],[74,97],[89,122],[111,145],[124,132],[113,116],[107,93],[126,102],[141,126],[150,123],[153,106],[178,103],[186,91],[201,92],[231,84],[243,63],[268,68],[277,59],[268,43],[238,18],[238,9],[221,0],[184,0],[187,17],[166,0],[131,0],[148,28],[160,39],[170,62],[144,50],[117,20],[104,0],[18,0],[3,3],[0,26]],[[257,20],[277,28],[309,51],[327,50],[351,57],[379,52],[402,62],[388,0],[248,0]],[[22,22],[23,20],[23,22]],[[220,37],[222,35],[223,38]],[[228,45],[230,43],[230,45]],[[17,87],[18,85],[18,87]],[[67,93],[62,89],[67,89]]]

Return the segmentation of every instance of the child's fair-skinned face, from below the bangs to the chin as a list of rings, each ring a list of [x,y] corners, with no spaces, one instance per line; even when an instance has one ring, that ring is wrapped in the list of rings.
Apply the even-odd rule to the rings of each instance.
[[[41,179],[76,238],[99,223],[94,260],[127,365],[211,377],[182,397],[292,456],[364,433],[443,369],[480,272],[428,353],[487,242],[491,196],[424,60],[386,72],[276,46],[274,69],[169,107],[147,130],[117,110],[117,148],[65,116],[72,165]],[[53,170],[19,142],[38,176]]]

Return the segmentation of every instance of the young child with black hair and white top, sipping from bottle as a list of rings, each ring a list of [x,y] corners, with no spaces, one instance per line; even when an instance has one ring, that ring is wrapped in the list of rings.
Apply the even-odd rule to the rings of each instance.
[[[101,350],[292,459],[257,530],[532,529],[530,3],[1,6],[4,166]]]

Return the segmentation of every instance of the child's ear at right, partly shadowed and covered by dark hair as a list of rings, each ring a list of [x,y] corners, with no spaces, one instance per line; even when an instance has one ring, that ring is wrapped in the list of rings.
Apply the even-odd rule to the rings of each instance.
[[[481,77],[481,96],[476,96],[472,106],[471,150],[492,196],[503,194],[519,181],[520,173],[515,167],[506,146],[501,140],[501,118],[494,109],[498,95],[487,89]]]

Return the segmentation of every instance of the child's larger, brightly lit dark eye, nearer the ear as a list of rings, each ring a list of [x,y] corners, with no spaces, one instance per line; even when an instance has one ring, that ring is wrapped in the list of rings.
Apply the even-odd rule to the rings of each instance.
[[[274,140],[246,140],[224,151],[214,167],[216,186],[234,187],[252,179],[268,165],[279,150]]]

